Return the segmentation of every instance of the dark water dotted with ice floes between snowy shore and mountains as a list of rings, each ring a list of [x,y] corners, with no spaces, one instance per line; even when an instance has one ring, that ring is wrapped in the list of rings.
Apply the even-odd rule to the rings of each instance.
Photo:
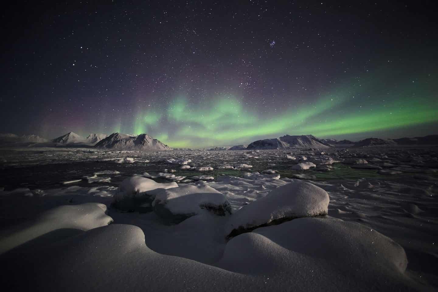
[[[194,152],[96,152],[96,151],[11,151],[2,153],[2,166],[0,169],[0,186],[5,190],[13,190],[19,187],[29,189],[50,189],[66,186],[118,186],[128,176],[148,172],[155,176],[164,169],[174,169],[175,176],[197,176],[207,174],[217,177],[230,175],[242,177],[244,172],[261,172],[265,169],[278,171],[281,177],[293,178],[293,175],[306,174],[312,176],[312,180],[356,180],[360,178],[385,179],[385,180],[412,180],[412,173],[399,175],[381,175],[374,169],[353,169],[343,163],[335,163],[333,169],[321,172],[315,169],[297,171],[291,169],[294,162],[287,160],[285,155],[290,151],[261,151],[258,158],[248,157],[247,151],[194,151]],[[306,155],[308,152],[297,151],[294,155]],[[102,161],[103,158],[133,157],[134,163],[114,163]],[[192,167],[212,166],[213,171],[198,172],[196,170],[180,170],[180,165],[172,165],[165,162],[166,158],[191,158],[189,163]],[[150,160],[149,162],[146,162]],[[218,169],[220,165],[234,165],[246,163],[253,165],[251,169]],[[91,176],[94,172],[102,170],[117,170],[117,175],[99,175],[99,177],[111,177],[111,182],[88,183],[84,176]],[[431,176],[437,177],[436,173]],[[64,185],[62,182],[83,179],[78,183]],[[158,182],[166,179],[154,179]]]

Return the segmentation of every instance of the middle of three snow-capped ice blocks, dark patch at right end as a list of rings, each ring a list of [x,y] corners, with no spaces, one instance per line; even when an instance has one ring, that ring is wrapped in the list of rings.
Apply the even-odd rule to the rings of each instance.
[[[231,214],[226,197],[206,184],[156,189],[151,194],[155,196],[152,202],[154,212],[168,224],[178,224],[200,214],[203,209],[220,216]]]

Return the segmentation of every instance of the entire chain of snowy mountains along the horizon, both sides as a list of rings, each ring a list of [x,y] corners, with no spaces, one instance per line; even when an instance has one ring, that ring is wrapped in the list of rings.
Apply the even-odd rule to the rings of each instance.
[[[48,140],[37,135],[0,134],[0,144],[6,147],[95,147],[114,150],[172,150],[168,145],[154,139],[148,134],[131,135],[113,133],[89,134],[88,137],[81,137],[74,132],[69,132],[60,137]],[[438,135],[428,135],[424,137],[399,138],[399,139],[380,139],[367,138],[357,142],[349,140],[338,141],[336,139],[319,139],[313,135],[285,135],[279,138],[262,139],[252,142],[249,145],[239,144],[226,147],[212,147],[208,150],[252,150],[252,149],[293,149],[293,148],[313,148],[324,149],[329,147],[374,147],[374,146],[394,146],[394,145],[436,145]]]

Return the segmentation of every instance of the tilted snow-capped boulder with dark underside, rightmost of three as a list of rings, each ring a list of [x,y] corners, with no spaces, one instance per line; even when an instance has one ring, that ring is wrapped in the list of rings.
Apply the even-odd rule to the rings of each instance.
[[[327,215],[329,194],[318,186],[296,179],[267,196],[244,206],[227,222],[227,237],[264,225],[278,224],[300,217]]]

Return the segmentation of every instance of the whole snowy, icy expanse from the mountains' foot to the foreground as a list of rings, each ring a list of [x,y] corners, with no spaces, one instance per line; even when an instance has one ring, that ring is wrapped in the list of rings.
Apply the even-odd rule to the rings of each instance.
[[[438,288],[436,148],[0,151],[5,291]]]

